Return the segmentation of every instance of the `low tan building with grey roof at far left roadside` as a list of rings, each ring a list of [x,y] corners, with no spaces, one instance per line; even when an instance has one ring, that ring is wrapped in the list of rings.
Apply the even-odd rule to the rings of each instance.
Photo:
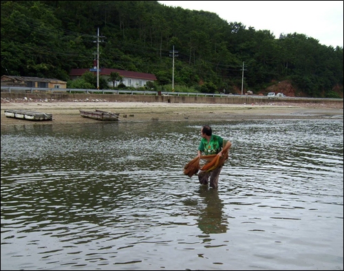
[[[30,76],[1,76],[1,87],[37,87],[48,89],[65,89],[67,82],[55,78]]]

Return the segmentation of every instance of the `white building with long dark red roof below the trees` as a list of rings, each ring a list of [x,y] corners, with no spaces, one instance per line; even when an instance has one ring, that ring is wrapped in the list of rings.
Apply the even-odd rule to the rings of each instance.
[[[72,69],[69,73],[69,77],[72,80],[75,80],[85,74],[85,72],[93,72],[94,74],[97,74],[97,69]],[[117,72],[120,76],[122,76],[122,83],[126,87],[143,87],[148,81],[153,82],[157,80],[154,74],[145,74],[143,72],[129,72],[122,69],[109,68],[100,68],[99,76],[103,76],[105,79],[108,79],[111,72]],[[118,85],[118,82],[116,82],[116,85]],[[109,82],[109,87],[113,87],[113,83]]]

